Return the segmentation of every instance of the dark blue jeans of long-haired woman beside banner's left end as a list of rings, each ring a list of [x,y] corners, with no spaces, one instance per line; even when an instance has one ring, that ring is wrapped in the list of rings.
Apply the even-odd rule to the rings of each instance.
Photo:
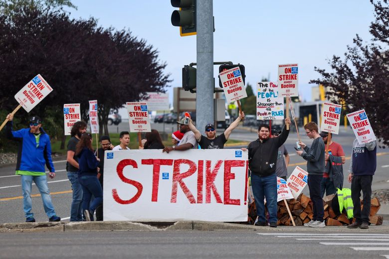
[[[96,175],[83,175],[78,180],[81,183],[83,191],[82,210],[88,210],[94,213],[96,207],[103,202],[103,189],[101,188],[101,184]],[[92,195],[95,198],[91,202]]]

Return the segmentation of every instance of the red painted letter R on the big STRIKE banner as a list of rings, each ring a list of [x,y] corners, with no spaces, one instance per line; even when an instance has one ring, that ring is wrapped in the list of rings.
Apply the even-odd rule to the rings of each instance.
[[[185,173],[180,173],[180,165],[188,164],[189,170]],[[173,166],[173,183],[172,183],[172,198],[170,200],[171,203],[177,202],[177,183],[180,184],[181,189],[183,189],[184,194],[187,196],[190,203],[196,203],[192,192],[188,189],[187,185],[183,182],[184,178],[187,178],[194,174],[197,170],[196,164],[189,159],[177,159],[174,160]]]

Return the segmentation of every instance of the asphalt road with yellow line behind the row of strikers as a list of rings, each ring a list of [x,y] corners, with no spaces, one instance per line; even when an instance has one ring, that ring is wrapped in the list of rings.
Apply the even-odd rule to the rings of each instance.
[[[125,128],[126,126],[128,127],[128,124],[122,123],[119,126]],[[155,124],[152,126],[152,128],[158,129],[158,127],[161,126],[162,124]],[[170,125],[170,127],[172,127],[172,125]],[[222,129],[217,130],[218,132],[222,131]],[[232,132],[230,138],[239,139],[242,141],[252,141],[257,138],[257,134],[255,129],[253,132],[243,129],[235,129]],[[296,155],[293,149],[293,145],[296,139],[297,134],[295,132],[291,132],[285,143],[285,146],[291,155],[290,164],[288,167],[289,174],[297,165],[303,169],[306,169],[306,162],[300,156]],[[345,171],[345,176],[347,177],[347,169],[349,168],[350,164],[350,155],[352,142],[354,140],[354,133],[351,131],[351,129],[348,131],[341,129],[340,134],[335,136],[334,140],[339,142],[345,150],[347,160],[343,168]],[[302,141],[308,145],[312,142],[312,140],[308,139],[306,135],[302,136]],[[379,156],[377,157],[376,175],[373,178],[373,189],[389,189],[389,150],[378,148],[377,152]],[[65,161],[55,161],[54,166],[56,169],[56,177],[54,179],[48,180],[52,201],[56,214],[64,220],[69,220],[72,194],[71,185],[67,179],[65,171]],[[345,187],[350,187],[350,184],[347,182],[346,178],[344,183]],[[304,189],[304,193],[308,194],[308,187]],[[22,210],[23,205],[21,195],[20,177],[14,175],[14,165],[0,168],[0,224],[10,222],[24,222],[25,218]],[[32,209],[35,213],[35,219],[39,222],[47,221],[48,219],[44,213],[39,192],[35,186],[32,188],[32,195]]]

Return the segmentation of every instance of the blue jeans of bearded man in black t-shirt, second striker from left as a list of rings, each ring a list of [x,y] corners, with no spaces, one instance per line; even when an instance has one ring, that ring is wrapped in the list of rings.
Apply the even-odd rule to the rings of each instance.
[[[82,221],[82,187],[78,181],[77,172],[67,172],[67,178],[72,184],[73,199],[70,207],[70,221]]]

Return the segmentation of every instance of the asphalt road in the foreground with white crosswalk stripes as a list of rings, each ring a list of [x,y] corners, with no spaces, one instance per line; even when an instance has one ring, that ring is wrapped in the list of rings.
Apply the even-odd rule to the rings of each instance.
[[[388,234],[258,231],[0,233],[14,258],[389,258]]]

